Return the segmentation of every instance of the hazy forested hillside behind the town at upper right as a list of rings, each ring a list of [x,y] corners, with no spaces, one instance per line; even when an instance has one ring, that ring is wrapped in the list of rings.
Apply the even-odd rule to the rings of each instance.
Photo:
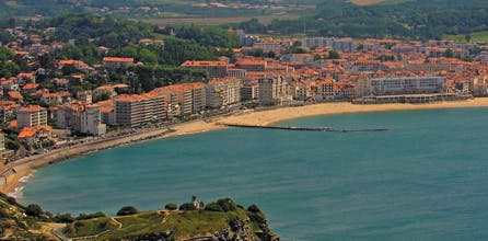
[[[251,33],[275,31],[322,36],[441,38],[445,34],[468,34],[488,28],[488,5],[484,0],[411,0],[360,7],[344,0],[322,1],[315,15],[300,20],[256,20],[239,27]]]

